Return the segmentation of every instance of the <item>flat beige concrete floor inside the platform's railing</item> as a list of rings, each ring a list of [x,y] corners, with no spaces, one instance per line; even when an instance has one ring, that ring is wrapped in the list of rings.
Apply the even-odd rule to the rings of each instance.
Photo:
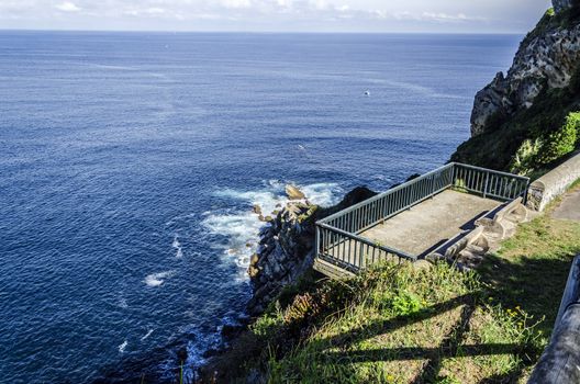
[[[472,229],[476,218],[499,205],[501,203],[494,200],[447,190],[364,231],[360,236],[421,256],[459,233]]]

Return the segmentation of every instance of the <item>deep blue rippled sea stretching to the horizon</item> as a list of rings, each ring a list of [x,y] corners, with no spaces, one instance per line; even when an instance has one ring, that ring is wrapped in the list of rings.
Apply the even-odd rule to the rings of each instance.
[[[252,205],[440,166],[520,38],[0,32],[0,382],[197,366]]]

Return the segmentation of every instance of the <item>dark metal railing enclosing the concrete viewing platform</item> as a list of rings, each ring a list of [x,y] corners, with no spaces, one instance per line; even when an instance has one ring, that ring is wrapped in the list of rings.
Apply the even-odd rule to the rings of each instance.
[[[358,271],[382,260],[415,261],[416,256],[373,242],[360,234],[443,192],[458,189],[500,201],[524,196],[528,178],[451,162],[316,223],[316,256]]]

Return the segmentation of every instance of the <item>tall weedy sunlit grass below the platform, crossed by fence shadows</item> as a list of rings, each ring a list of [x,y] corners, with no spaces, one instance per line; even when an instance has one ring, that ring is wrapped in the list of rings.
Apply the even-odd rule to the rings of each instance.
[[[383,266],[358,279],[357,304],[270,357],[271,383],[500,382],[540,351],[525,312],[491,302],[476,273]]]

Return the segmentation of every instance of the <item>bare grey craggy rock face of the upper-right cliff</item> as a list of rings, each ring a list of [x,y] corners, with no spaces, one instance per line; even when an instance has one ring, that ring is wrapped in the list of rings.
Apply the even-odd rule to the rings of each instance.
[[[471,135],[493,131],[515,112],[528,109],[548,89],[568,87],[580,64],[580,25],[562,26],[561,13],[578,7],[576,0],[554,0],[556,14],[546,13],[521,44],[507,75],[498,74],[476,95]],[[564,20],[564,19],[562,19]]]

